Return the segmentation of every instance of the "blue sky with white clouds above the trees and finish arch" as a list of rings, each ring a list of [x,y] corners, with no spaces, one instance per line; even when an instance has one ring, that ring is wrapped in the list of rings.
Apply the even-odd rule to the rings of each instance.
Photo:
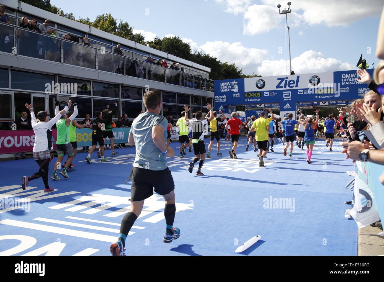
[[[292,69],[298,73],[356,69],[361,53],[375,57],[382,0],[293,0],[288,14]],[[146,38],[176,35],[194,49],[236,63],[243,73],[263,76],[289,71],[285,15],[280,0],[51,0],[76,18],[112,13]],[[148,15],[149,13],[149,15]],[[286,38],[287,36],[287,38]],[[279,47],[281,47],[279,49]],[[371,54],[367,54],[369,51]],[[279,52],[280,51],[280,52]],[[287,66],[287,67],[286,67]]]

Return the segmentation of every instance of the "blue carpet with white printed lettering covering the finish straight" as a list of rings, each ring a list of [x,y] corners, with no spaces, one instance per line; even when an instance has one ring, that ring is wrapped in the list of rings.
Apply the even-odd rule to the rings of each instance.
[[[127,236],[129,255],[356,255],[358,233],[353,219],[344,218],[353,192],[345,187],[352,177],[346,171],[353,164],[341,154],[339,142],[333,152],[318,139],[312,164],[306,151],[295,142],[293,157],[283,155],[281,143],[267,154],[265,167],[258,166],[253,148],[240,138],[238,159],[231,159],[230,142],[222,139],[222,157],[216,157],[216,141],[211,158],[202,172],[188,172],[194,158],[188,152],[178,157],[179,143],[170,144],[177,156],[168,158],[175,181],[174,226],[181,236],[169,244],[162,242],[166,231],[164,199],[154,194]],[[205,139],[208,147],[209,139]],[[253,145],[253,144],[251,144]],[[41,179],[21,188],[22,176],[38,170],[32,158],[0,162],[0,255],[111,255],[121,219],[129,211],[131,181],[128,178],[135,148],[116,150],[101,163],[96,152],[91,164],[86,153],[74,159],[69,179],[49,180],[55,189],[43,193]],[[50,175],[53,171],[50,164]],[[66,158],[65,158],[66,160]],[[261,239],[242,253],[237,247],[253,236]]]

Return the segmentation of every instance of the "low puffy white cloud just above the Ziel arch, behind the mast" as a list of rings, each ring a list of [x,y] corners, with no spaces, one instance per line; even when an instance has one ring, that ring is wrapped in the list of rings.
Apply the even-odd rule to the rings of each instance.
[[[355,69],[352,64],[342,63],[335,58],[326,58],[324,54],[313,50],[305,51],[300,56],[292,59],[292,70],[296,74],[323,73],[331,71],[344,71]],[[262,76],[278,76],[289,73],[289,61],[264,60],[257,67],[257,74]]]

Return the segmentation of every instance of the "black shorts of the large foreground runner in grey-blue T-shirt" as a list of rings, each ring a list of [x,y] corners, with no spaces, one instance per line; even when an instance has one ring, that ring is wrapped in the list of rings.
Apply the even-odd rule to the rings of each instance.
[[[172,174],[168,168],[149,170],[134,167],[130,201],[142,201],[153,195],[153,190],[160,195],[167,195],[175,189]]]

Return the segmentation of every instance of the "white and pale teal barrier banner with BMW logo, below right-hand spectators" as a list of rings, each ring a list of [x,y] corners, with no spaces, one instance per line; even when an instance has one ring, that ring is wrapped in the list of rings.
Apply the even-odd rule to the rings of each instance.
[[[356,162],[351,216],[359,228],[384,218],[384,185],[379,181],[383,172],[384,165]]]

